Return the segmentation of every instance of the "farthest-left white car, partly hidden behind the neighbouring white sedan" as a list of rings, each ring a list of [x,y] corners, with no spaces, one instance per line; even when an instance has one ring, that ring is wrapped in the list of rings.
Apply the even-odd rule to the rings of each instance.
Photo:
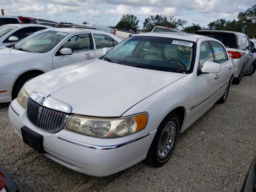
[[[43,29],[53,28],[50,26],[37,24],[7,24],[0,26],[0,46],[10,46],[31,35],[34,32]]]

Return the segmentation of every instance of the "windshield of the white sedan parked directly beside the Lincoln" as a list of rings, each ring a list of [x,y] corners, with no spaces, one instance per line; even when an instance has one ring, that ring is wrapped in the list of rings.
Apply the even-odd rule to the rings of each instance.
[[[40,31],[14,44],[18,50],[45,53],[54,48],[68,33],[58,31]]]

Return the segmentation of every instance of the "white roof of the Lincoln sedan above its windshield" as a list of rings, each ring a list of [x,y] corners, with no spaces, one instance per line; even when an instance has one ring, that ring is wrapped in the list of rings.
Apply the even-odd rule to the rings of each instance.
[[[206,36],[202,36],[202,35],[196,35],[196,34],[190,34],[190,33],[180,33],[180,32],[148,32],[148,33],[136,34],[133,36],[166,37],[166,38],[188,40],[188,41],[193,41],[193,42],[196,42],[200,38],[206,38]]]

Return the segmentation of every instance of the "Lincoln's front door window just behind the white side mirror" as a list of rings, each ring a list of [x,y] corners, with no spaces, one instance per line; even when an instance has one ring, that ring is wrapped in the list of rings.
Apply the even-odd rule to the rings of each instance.
[[[208,42],[203,42],[200,46],[198,69],[202,69],[206,61],[214,62],[213,53]]]

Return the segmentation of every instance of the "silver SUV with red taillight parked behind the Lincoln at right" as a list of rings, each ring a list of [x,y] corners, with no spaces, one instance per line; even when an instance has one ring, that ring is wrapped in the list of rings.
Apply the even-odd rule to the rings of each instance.
[[[252,61],[250,40],[246,34],[232,31],[201,30],[195,34],[215,38],[222,42],[228,54],[234,59],[235,75],[234,84],[239,84],[244,72],[248,70]]]

